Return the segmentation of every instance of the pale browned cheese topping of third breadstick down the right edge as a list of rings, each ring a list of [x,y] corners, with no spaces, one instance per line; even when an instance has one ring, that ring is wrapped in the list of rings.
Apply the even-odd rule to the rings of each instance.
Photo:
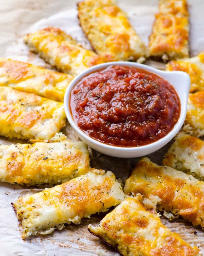
[[[204,180],[204,142],[180,133],[169,148],[163,164]]]

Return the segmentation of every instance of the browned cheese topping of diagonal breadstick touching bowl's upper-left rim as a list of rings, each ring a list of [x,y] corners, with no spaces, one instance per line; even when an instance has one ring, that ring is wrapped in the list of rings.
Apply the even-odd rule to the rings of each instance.
[[[103,58],[81,47],[71,36],[55,27],[47,27],[24,38],[31,51],[64,73],[76,76],[83,70],[103,63]]]

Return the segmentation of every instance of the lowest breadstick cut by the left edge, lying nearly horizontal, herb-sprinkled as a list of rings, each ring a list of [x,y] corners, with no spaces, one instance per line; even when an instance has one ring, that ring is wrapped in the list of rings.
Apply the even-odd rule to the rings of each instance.
[[[0,181],[27,186],[56,185],[89,171],[81,141],[0,145]]]

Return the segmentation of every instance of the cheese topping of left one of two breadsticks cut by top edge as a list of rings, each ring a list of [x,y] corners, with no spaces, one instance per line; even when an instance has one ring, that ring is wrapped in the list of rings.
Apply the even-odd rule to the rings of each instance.
[[[125,13],[112,0],[78,3],[80,25],[95,51],[109,61],[137,60],[148,56],[145,44]]]

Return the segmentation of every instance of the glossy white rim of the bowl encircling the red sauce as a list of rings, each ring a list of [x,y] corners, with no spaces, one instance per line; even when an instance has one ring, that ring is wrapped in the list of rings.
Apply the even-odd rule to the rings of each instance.
[[[100,69],[104,69],[109,67],[110,65],[121,65],[121,66],[127,66],[127,67],[136,67],[136,68],[140,68],[143,70],[147,70],[149,72],[152,72],[154,74],[157,74],[158,76],[162,77],[163,79],[167,80],[169,82],[169,80],[165,77],[162,76],[162,74],[171,74],[172,76],[174,75],[181,75],[183,77],[186,77],[187,83],[188,85],[186,87],[188,87],[188,90],[186,90],[186,95],[188,95],[189,93],[189,88],[190,88],[190,77],[186,72],[183,71],[163,71],[163,70],[159,70],[153,67],[150,67],[148,65],[144,65],[141,63],[137,63],[137,62],[130,62],[130,61],[113,61],[113,62],[105,62],[102,64],[98,64],[95,66],[92,66],[88,69],[86,69],[85,71],[81,72],[80,74],[78,74],[68,85],[68,87],[66,88],[65,91],[65,95],[64,95],[64,109],[65,109],[65,114],[66,117],[70,123],[70,125],[72,126],[72,128],[78,133],[80,134],[80,137],[84,138],[86,141],[89,141],[92,144],[97,145],[98,147],[103,147],[104,149],[112,149],[114,151],[126,151],[126,152],[138,152],[138,151],[144,151],[144,150],[150,150],[152,147],[157,147],[158,148],[158,144],[161,144],[161,147],[163,147],[164,145],[166,145],[175,135],[176,133],[180,130],[181,126],[183,125],[184,121],[185,121],[185,117],[186,117],[186,110],[187,110],[187,101],[183,100],[183,98],[181,98],[178,94],[178,90],[175,88],[174,85],[171,85],[174,87],[174,89],[177,92],[177,95],[179,97],[180,100],[180,105],[181,105],[181,109],[180,109],[180,116],[179,119],[177,121],[177,123],[174,125],[174,127],[171,129],[171,131],[169,133],[167,133],[164,137],[162,137],[161,139],[154,141],[152,143],[146,144],[146,145],[141,145],[141,146],[137,146],[137,147],[121,147],[121,146],[115,146],[115,145],[109,145],[106,144],[104,142],[100,142],[92,137],[90,137],[89,135],[87,135],[85,132],[83,132],[83,130],[81,130],[78,125],[74,122],[72,114],[71,114],[71,110],[70,110],[70,96],[71,96],[71,91],[73,89],[73,87],[77,84],[77,82],[79,82],[83,77],[87,76],[90,73],[93,72],[97,72]],[[184,102],[186,101],[186,102]],[[160,147],[160,148],[161,148]],[[155,150],[156,151],[156,150]]]

